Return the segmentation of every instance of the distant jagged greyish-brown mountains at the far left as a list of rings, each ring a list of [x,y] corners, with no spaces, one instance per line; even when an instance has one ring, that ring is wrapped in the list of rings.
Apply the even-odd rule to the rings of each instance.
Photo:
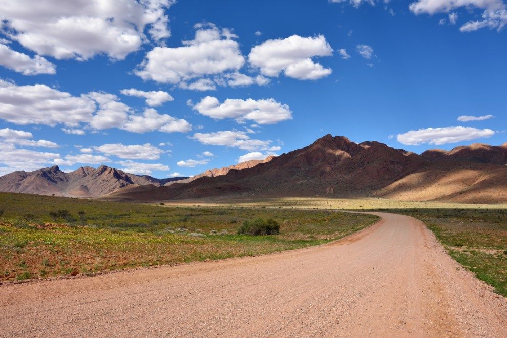
[[[129,185],[153,184],[160,186],[168,180],[150,176],[138,176],[115,168],[101,165],[89,166],[64,173],[58,166],[43,168],[33,172],[14,172],[0,177],[0,191],[56,195],[70,197],[102,196]]]

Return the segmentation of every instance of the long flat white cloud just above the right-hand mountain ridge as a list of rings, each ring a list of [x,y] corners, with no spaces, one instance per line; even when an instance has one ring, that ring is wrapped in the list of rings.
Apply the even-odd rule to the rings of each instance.
[[[440,145],[490,137],[494,134],[495,132],[491,129],[455,126],[411,130],[404,134],[398,134],[396,139],[405,145],[420,145],[424,143]]]

